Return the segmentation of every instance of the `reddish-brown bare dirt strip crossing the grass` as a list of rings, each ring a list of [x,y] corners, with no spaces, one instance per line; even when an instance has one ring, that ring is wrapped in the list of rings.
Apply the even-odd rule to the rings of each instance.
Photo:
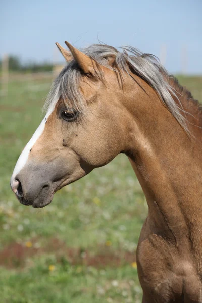
[[[32,246],[13,242],[0,251],[0,265],[7,268],[23,268],[27,258],[44,254],[55,254],[57,261],[65,258],[72,265],[85,265],[96,268],[120,267],[135,262],[135,252],[114,250],[111,247],[99,246],[98,253],[92,254],[90,250],[67,247],[59,239],[51,239],[45,247],[35,247],[36,239],[31,241]]]

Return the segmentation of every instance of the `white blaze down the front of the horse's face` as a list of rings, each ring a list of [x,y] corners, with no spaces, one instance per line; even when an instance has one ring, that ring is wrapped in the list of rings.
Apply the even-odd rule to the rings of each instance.
[[[43,118],[43,120],[41,121],[39,127],[37,128],[37,130],[33,134],[32,138],[29,140],[29,142],[27,143],[27,145],[23,149],[23,151],[22,151],[22,153],[21,153],[21,155],[20,155],[20,157],[19,157],[19,159],[16,163],[14,171],[13,171],[13,174],[12,174],[12,177],[11,177],[11,185],[13,184],[17,174],[21,171],[23,166],[26,164],[27,159],[29,157],[30,149],[34,146],[34,144],[36,143],[38,138],[41,136],[41,134],[42,134],[42,132],[45,128],[45,122],[47,121],[49,115],[51,115],[51,113],[54,111],[56,103],[57,103],[57,100],[48,109],[48,111],[47,111],[45,117]]]

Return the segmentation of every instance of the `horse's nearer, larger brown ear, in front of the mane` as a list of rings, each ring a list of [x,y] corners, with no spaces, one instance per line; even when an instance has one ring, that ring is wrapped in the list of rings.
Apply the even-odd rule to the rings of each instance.
[[[90,59],[90,57],[88,57],[87,55],[85,55],[84,53],[82,53],[81,51],[79,51],[77,48],[75,48],[74,46],[72,46],[67,41],[65,41],[65,44],[70,49],[70,51],[72,53],[72,56],[74,57],[74,59],[76,60],[76,62],[78,63],[78,65],[80,66],[80,68],[82,69],[82,71],[85,74],[91,74],[92,75],[93,72],[94,72],[94,67],[93,67],[92,59]]]

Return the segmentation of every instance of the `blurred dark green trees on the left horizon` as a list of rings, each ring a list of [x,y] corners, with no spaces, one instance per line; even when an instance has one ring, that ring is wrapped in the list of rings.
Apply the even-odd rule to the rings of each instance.
[[[2,60],[0,60],[2,66]],[[0,67],[1,69],[1,67]],[[48,72],[53,70],[53,64],[48,62],[36,63],[28,62],[22,63],[20,58],[15,55],[9,56],[9,70],[19,72]]]

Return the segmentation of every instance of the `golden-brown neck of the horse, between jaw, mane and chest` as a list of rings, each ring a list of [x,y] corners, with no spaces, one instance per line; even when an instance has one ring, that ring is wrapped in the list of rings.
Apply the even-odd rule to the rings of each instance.
[[[185,243],[184,239],[189,242],[191,237],[189,244],[197,246],[198,228],[202,226],[202,156],[198,128],[197,138],[188,136],[154,90],[143,81],[141,86],[146,93],[139,89],[135,99],[141,99],[144,109],[140,107],[139,113],[134,107],[136,101],[132,97],[127,100],[133,116],[127,155],[149,207],[148,218],[153,230],[148,233],[163,233],[175,244]]]

